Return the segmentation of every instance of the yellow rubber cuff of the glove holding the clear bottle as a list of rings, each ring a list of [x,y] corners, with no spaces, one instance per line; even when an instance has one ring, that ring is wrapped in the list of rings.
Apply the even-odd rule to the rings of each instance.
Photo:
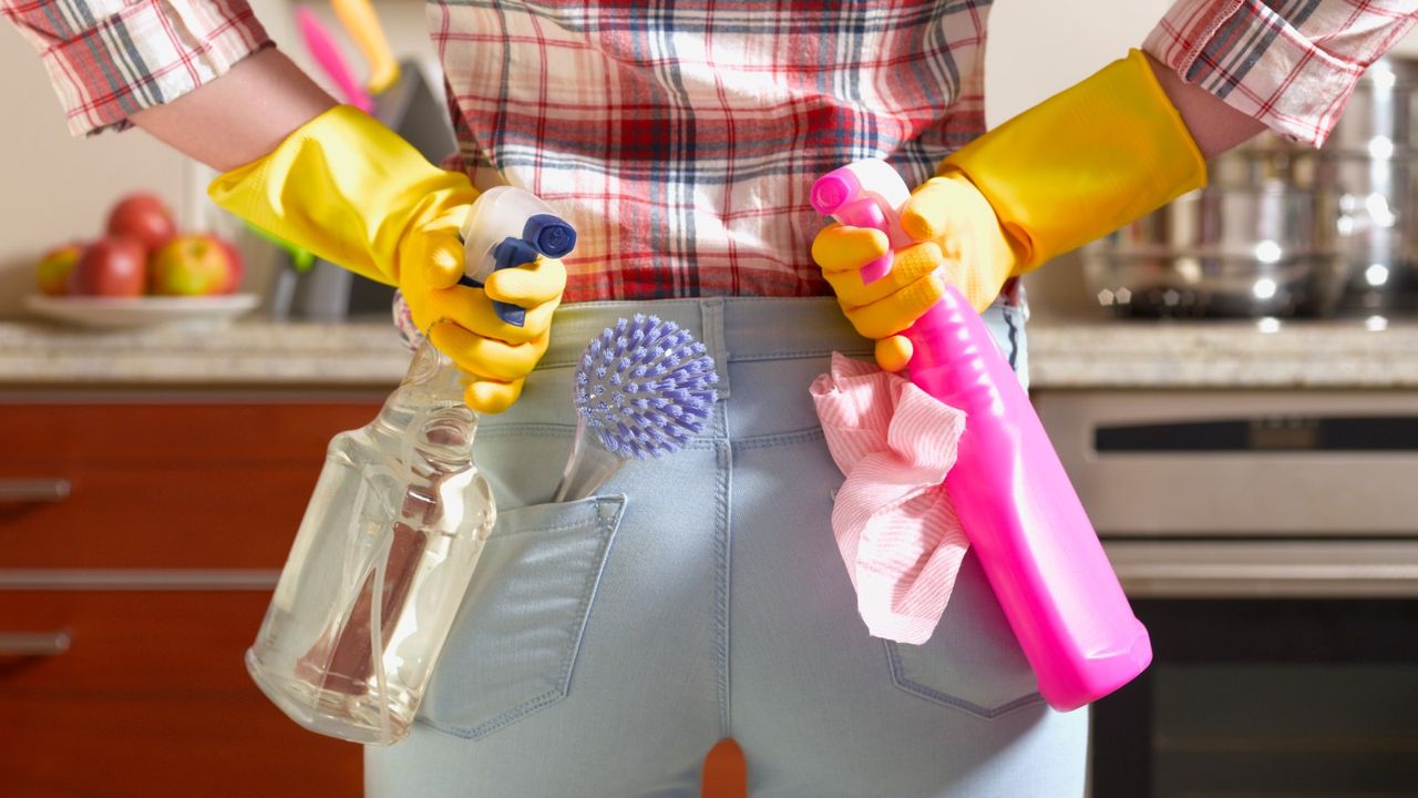
[[[356,274],[396,284],[398,244],[418,220],[478,192],[428,163],[373,116],[339,105],[207,187],[217,206]]]

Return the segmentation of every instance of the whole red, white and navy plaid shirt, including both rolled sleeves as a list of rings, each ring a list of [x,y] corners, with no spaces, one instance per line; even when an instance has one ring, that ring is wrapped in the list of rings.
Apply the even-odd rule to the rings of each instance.
[[[567,301],[827,294],[815,176],[910,183],[984,132],[988,0],[430,0],[461,142],[450,168],[543,196],[580,233]],[[1320,143],[1418,0],[1177,0],[1144,43],[1187,81]],[[69,128],[123,126],[269,44],[244,0],[0,0]]]

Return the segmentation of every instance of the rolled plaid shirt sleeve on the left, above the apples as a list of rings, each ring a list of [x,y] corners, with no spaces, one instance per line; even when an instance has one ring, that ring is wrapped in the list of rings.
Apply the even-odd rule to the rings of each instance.
[[[0,0],[34,45],[74,135],[182,97],[271,45],[245,0]]]

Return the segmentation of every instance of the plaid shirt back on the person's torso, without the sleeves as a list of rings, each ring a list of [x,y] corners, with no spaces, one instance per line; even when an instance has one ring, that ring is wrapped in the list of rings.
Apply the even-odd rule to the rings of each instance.
[[[813,180],[984,131],[988,1],[430,0],[459,153],[579,231],[566,300],[828,294]]]

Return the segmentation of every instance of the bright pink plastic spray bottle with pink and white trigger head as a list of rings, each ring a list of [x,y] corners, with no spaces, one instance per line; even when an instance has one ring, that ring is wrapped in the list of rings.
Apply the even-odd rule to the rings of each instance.
[[[909,196],[900,175],[872,159],[820,177],[811,202],[842,224],[885,231],[898,248],[913,243],[898,217]],[[879,280],[891,263],[886,253],[868,264],[862,281]],[[947,285],[903,335],[910,381],[966,413],[946,491],[1039,693],[1069,711],[1132,682],[1151,663],[1147,629],[984,321]]]

